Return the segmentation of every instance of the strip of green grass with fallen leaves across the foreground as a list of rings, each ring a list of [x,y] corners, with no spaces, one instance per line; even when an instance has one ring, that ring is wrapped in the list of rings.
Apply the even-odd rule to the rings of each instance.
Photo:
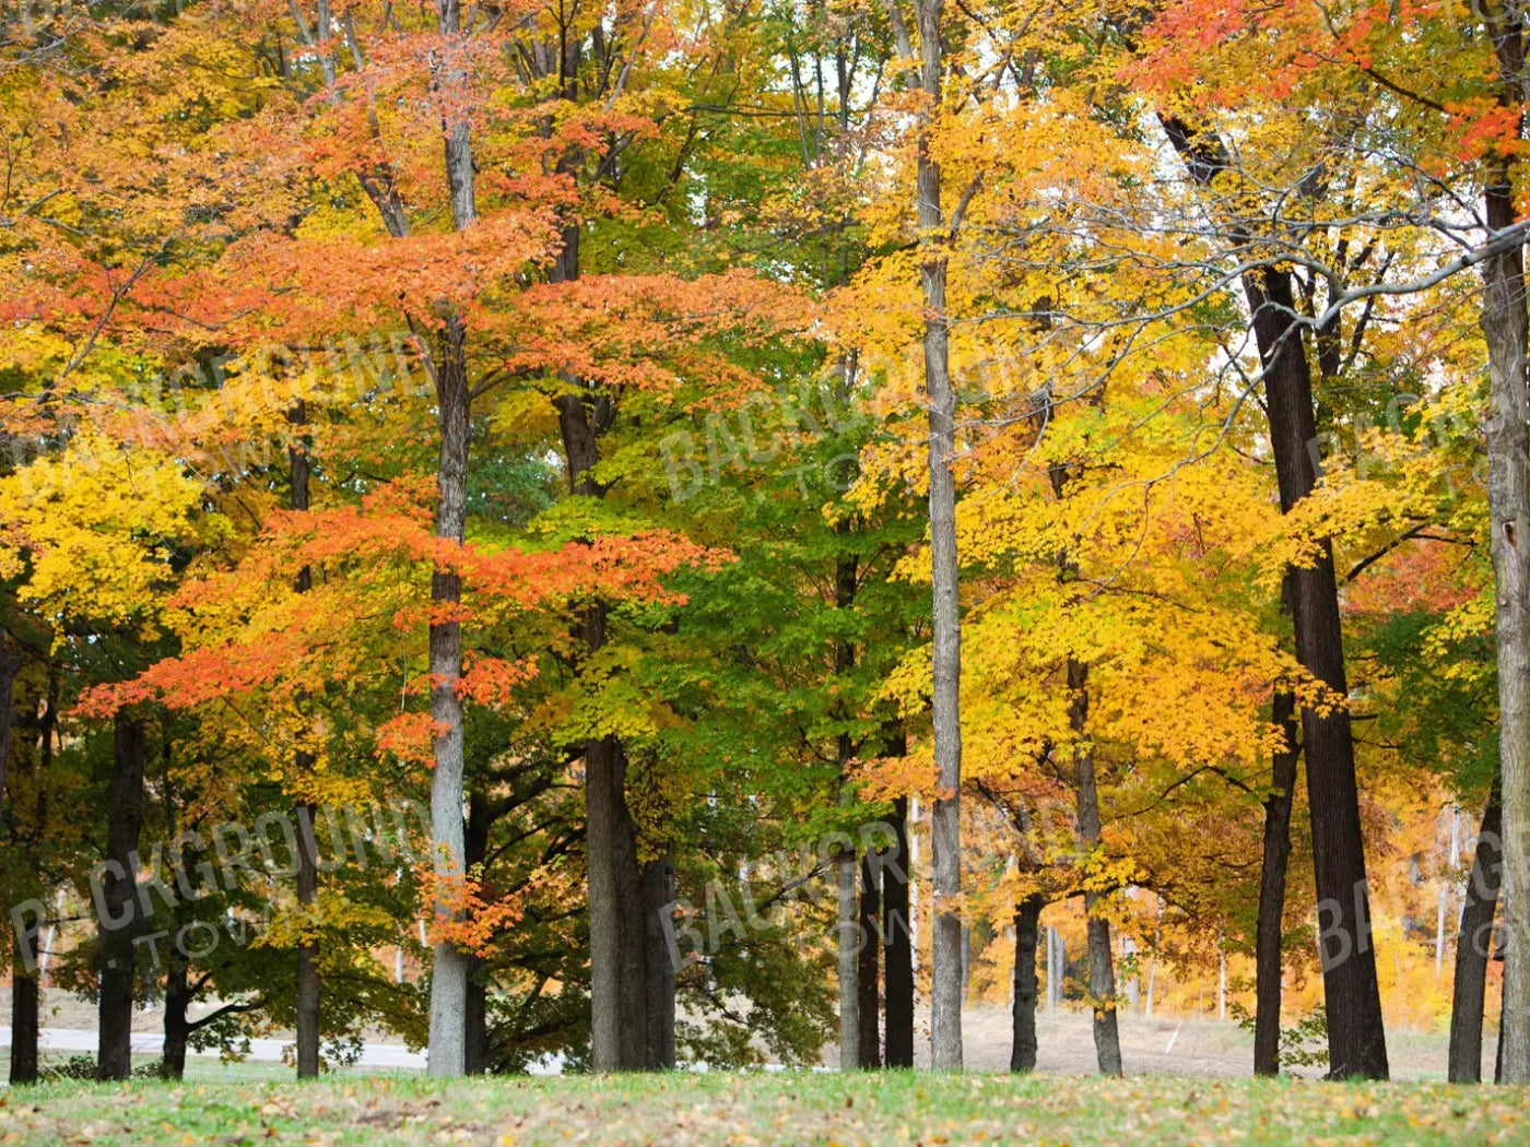
[[[0,1144],[1524,1144],[1530,1090],[886,1072],[0,1092]]]

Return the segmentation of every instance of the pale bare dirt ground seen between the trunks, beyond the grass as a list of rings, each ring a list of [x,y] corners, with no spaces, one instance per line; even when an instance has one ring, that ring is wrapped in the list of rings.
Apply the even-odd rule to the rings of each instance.
[[[0,1025],[9,1028],[9,991],[0,993]],[[49,993],[43,1000],[43,1025],[47,1028],[95,1028],[95,1006],[64,993]],[[1094,1037],[1089,1015],[1065,1009],[1036,1017],[1039,1037],[1037,1071],[1050,1075],[1088,1075],[1095,1071]],[[159,1031],[162,1012],[138,1011],[133,1031]],[[920,1009],[915,1032],[918,1066],[929,1061],[929,1012]],[[1253,1063],[1253,1037],[1235,1023],[1204,1019],[1123,1015],[1120,1020],[1121,1057],[1131,1075],[1247,1075]],[[373,1037],[378,1041],[395,1041]],[[967,1067],[972,1071],[1004,1071],[1010,1066],[1010,1012],[1005,1008],[975,1006],[962,1012],[962,1041]],[[1484,1040],[1484,1074],[1492,1078],[1493,1034]],[[1386,1048],[1395,1080],[1431,1080],[1444,1077],[1444,1035],[1421,1032],[1388,1032]],[[825,1049],[823,1061],[835,1064],[837,1049]],[[1317,1074],[1302,1071],[1300,1074]]]

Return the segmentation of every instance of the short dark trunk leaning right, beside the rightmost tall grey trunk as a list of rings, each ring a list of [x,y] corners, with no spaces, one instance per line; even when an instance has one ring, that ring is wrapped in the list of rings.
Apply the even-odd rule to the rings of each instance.
[[[1493,911],[1502,876],[1502,807],[1498,781],[1483,809],[1476,833],[1472,879],[1466,885],[1461,928],[1455,937],[1455,988],[1450,996],[1450,1083],[1483,1078],[1483,1006],[1487,996],[1487,960],[1493,954]]]

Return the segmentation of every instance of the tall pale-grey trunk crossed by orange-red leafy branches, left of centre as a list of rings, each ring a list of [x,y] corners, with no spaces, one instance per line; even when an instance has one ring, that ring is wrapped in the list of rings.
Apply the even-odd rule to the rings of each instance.
[[[441,37],[456,41],[462,32],[457,0],[436,2]],[[453,43],[451,47],[456,47]],[[448,96],[461,96],[467,72],[454,66],[441,80]],[[473,194],[473,150],[465,118],[442,116],[447,185],[451,222],[457,231],[473,225],[477,205]],[[441,453],[436,465],[436,537],[462,543],[467,532],[468,444],[471,437],[471,390],[467,372],[467,329],[462,317],[448,314],[436,356],[436,424]],[[447,615],[462,601],[462,577],[456,569],[436,569],[430,599]],[[433,743],[430,777],[430,835],[436,876],[451,882],[464,878],[462,867],[462,702],[456,685],[462,676],[462,627],[454,618],[430,625],[430,716],[444,729]],[[450,916],[451,905],[436,902],[436,915]],[[430,973],[430,1074],[462,1075],[468,967],[465,953],[441,941],[433,948]]]

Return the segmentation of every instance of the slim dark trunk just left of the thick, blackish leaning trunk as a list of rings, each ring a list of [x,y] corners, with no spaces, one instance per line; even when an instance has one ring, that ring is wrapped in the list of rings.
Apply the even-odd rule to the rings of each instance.
[[[1259,869],[1259,918],[1255,924],[1253,1074],[1281,1072],[1281,933],[1285,918],[1285,869],[1291,858],[1291,795],[1296,789],[1296,697],[1274,694],[1271,723],[1285,734],[1285,748],[1270,768],[1264,801],[1264,863]],[[1149,991],[1149,1008],[1152,993]]]

